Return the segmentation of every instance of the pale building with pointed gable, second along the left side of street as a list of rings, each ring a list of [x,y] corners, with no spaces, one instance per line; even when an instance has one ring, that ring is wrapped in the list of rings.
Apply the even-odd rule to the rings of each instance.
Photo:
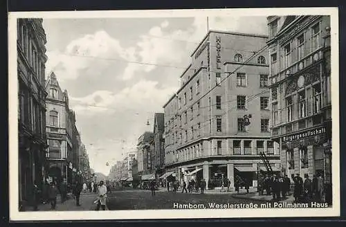
[[[67,91],[62,91],[54,73],[46,80],[46,91],[46,133],[49,145],[46,153],[47,174],[57,182],[64,179],[67,183],[73,183],[79,170],[75,154],[79,154],[79,147],[73,147],[78,145],[79,136],[74,129],[75,114],[69,108]]]

